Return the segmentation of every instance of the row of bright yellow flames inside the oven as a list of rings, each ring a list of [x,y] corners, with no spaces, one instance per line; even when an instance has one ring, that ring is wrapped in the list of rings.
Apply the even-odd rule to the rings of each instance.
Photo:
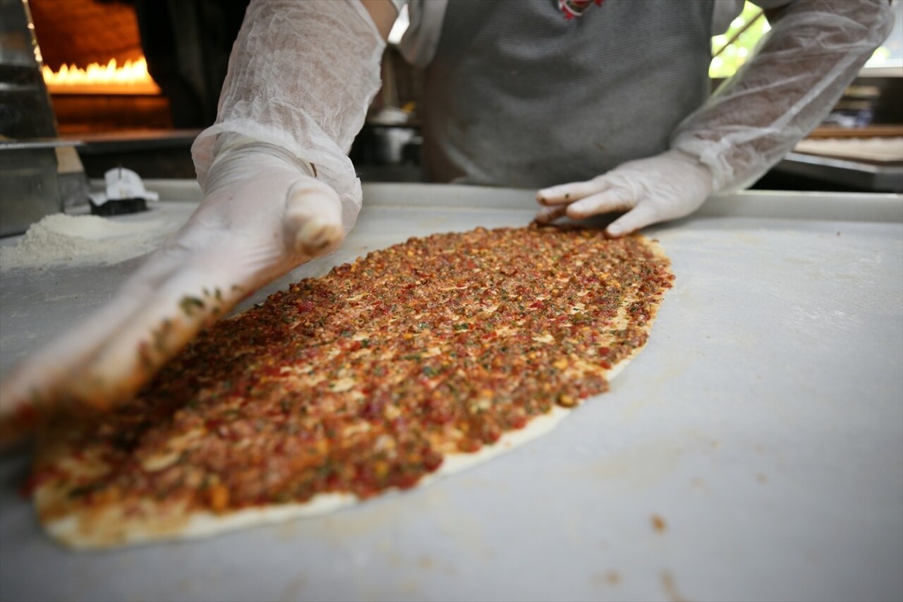
[[[64,64],[60,71],[52,71],[44,66],[42,72],[51,94],[160,94],[144,57],[121,67],[110,59],[106,65],[92,62],[87,69]]]

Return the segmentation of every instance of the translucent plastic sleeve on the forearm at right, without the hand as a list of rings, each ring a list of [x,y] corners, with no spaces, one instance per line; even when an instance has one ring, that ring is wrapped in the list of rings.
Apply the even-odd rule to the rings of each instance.
[[[821,123],[892,25],[887,0],[797,0],[672,147],[711,169],[713,192],[748,186]]]

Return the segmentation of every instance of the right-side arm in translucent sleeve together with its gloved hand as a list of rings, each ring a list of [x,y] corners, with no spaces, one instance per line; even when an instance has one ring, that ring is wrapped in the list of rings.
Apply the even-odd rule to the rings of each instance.
[[[677,127],[672,150],[539,191],[536,220],[629,210],[606,230],[620,236],[748,186],[824,119],[893,26],[885,0],[759,4],[785,6],[750,60]]]

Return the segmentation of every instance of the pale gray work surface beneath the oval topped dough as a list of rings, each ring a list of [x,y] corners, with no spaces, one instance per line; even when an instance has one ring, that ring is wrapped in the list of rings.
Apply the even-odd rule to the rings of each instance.
[[[189,183],[156,190],[197,198]],[[339,252],[268,291],[534,210],[532,192],[454,186],[370,185],[365,199]],[[89,554],[42,535],[16,493],[27,458],[5,457],[0,597],[903,597],[901,198],[740,193],[649,233],[676,281],[647,349],[552,434],[330,516]],[[0,371],[137,261],[0,272]]]

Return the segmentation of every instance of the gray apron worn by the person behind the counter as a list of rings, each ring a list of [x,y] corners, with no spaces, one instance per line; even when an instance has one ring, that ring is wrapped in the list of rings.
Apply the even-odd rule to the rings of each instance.
[[[450,0],[424,74],[433,182],[587,180],[665,151],[708,96],[712,0]]]

